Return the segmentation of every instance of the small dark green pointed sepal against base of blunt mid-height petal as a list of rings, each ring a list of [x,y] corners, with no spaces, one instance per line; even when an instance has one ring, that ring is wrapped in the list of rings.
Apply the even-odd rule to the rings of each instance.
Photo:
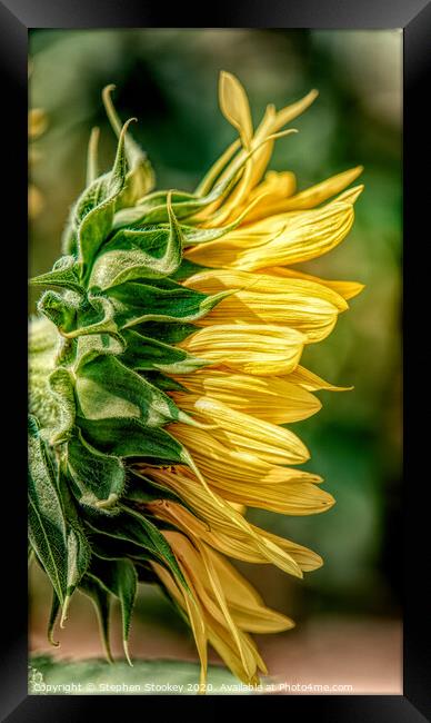
[[[121,359],[132,369],[148,372],[156,369],[164,374],[190,374],[207,366],[206,359],[199,359],[184,349],[180,349],[137,331],[123,331],[127,343]]]

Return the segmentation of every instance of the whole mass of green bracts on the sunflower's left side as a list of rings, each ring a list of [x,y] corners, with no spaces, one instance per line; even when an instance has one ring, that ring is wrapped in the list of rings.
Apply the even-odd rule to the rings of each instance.
[[[184,503],[133,463],[193,467],[163,428],[197,424],[167,395],[181,385],[166,374],[207,364],[173,345],[225,293],[208,296],[174,279],[197,268],[182,261],[184,247],[233,228],[199,229],[193,214],[230,190],[239,167],[207,195],[151,192],[152,170],[128,136],[130,121],[120,128],[104,100],[118,133],[112,169],[97,175],[92,133],[88,184],[70,215],[64,255],[32,279],[47,290],[30,329],[29,542],[52,584],[50,641],[59,612],[62,625],[80,590],[97,607],[110,656],[109,604],[117,597],[129,660],[137,581],[152,580],[149,563],[164,565],[187,590],[162,523],[143,507]]]

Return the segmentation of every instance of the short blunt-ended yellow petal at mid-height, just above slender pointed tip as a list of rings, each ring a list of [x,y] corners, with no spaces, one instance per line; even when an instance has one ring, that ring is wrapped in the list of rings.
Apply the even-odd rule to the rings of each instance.
[[[287,326],[219,324],[200,329],[179,346],[213,364],[262,376],[290,374],[307,337]]]

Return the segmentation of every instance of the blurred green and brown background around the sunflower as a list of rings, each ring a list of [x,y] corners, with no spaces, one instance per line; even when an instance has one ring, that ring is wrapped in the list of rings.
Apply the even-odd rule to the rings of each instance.
[[[249,516],[315,548],[324,566],[289,578],[270,566],[239,565],[268,604],[297,621],[288,634],[261,644],[270,672],[303,685],[351,684],[354,692],[401,692],[401,79],[402,33],[242,29],[34,30],[30,34],[30,107],[48,125],[31,143],[38,189],[30,224],[31,274],[60,252],[68,209],[84,184],[92,126],[101,128],[108,169],[114,137],[101,89],[117,85],[123,119],[147,149],[159,187],[192,190],[232,140],[218,108],[221,69],[245,86],[254,121],[311,88],[320,96],[297,121],[297,136],[275,145],[271,167],[293,170],[299,188],[362,164],[365,191],[348,239],[303,270],[367,285],[332,335],[303,361],[345,394],[319,393],[323,409],[292,425],[312,453],[310,469],[325,478],[337,505],[324,515]],[[30,311],[34,297],[30,297]],[[52,648],[44,630],[49,588],[31,572],[31,647]],[[58,655],[101,652],[93,610],[76,595]],[[120,655],[120,641],[114,650]],[[196,660],[186,625],[164,598],[142,586],[131,650],[143,657]],[[217,656],[213,657],[217,660]]]

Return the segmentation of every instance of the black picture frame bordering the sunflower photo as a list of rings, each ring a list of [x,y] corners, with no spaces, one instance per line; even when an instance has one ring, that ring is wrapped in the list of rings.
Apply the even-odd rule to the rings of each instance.
[[[229,7],[225,7],[228,6]],[[206,17],[204,17],[206,16]],[[179,23],[177,26],[177,22]],[[319,721],[334,723],[420,723],[431,721],[431,594],[429,574],[428,511],[430,484],[427,478],[427,281],[423,260],[429,244],[428,206],[430,205],[430,129],[424,106],[431,79],[431,2],[427,0],[248,0],[214,3],[210,8],[180,6],[169,8],[146,0],[0,0],[0,68],[3,82],[1,120],[2,170],[6,192],[2,195],[1,228],[3,264],[11,269],[13,291],[3,300],[13,329],[3,330],[0,357],[4,363],[1,378],[16,375],[13,406],[8,407],[6,434],[7,460],[2,460],[3,507],[0,534],[2,597],[6,611],[1,617],[0,715],[10,723],[21,721],[89,721],[107,715],[107,720],[124,719],[129,705],[142,716],[146,706],[140,697],[128,696],[31,696],[27,692],[27,564],[24,485],[27,464],[23,419],[26,397],[27,290],[26,278],[18,268],[23,248],[20,239],[27,234],[27,43],[30,28],[147,28],[147,27],[263,27],[319,29],[403,29],[404,47],[404,117],[403,117],[403,237],[404,237],[404,494],[403,559],[400,575],[404,577],[404,685],[403,695],[328,695],[270,696],[270,706],[281,705],[283,715],[319,715]],[[16,174],[12,174],[17,171]],[[428,177],[427,177],[428,176]],[[13,179],[13,180],[12,180]],[[4,199],[7,202],[4,204]],[[9,224],[9,230],[4,226]],[[12,239],[8,242],[8,239]],[[18,250],[18,259],[16,250]],[[17,263],[18,261],[18,263]],[[13,270],[13,273],[12,273]],[[17,278],[18,276],[18,278]],[[22,278],[21,278],[22,277]],[[4,284],[8,279],[4,279]],[[22,283],[22,286],[21,286]],[[10,296],[12,295],[12,296]],[[4,298],[4,297],[3,297]],[[378,313],[378,310],[377,310]],[[21,317],[22,315],[22,317]],[[18,318],[19,317],[19,318]],[[17,321],[18,318],[18,321]],[[413,330],[413,319],[418,330]],[[21,356],[22,355],[22,356]],[[415,358],[414,358],[415,357]],[[16,361],[17,358],[17,361]],[[7,385],[12,385],[8,382]],[[1,387],[0,387],[1,388]],[[6,393],[7,389],[3,392]],[[418,408],[415,402],[420,400]],[[4,415],[3,415],[4,418]],[[414,424],[417,418],[417,424]],[[22,425],[22,426],[21,426]],[[22,436],[21,436],[22,433]],[[10,445],[9,445],[10,439]],[[414,462],[418,472],[414,471]],[[423,463],[423,466],[422,466]],[[22,467],[22,469],[21,469]],[[22,476],[21,476],[22,473]],[[9,527],[6,524],[10,523]],[[427,568],[428,567],[428,568]],[[7,582],[6,582],[7,581]],[[254,696],[253,706],[268,705]],[[157,699],[160,701],[161,697]],[[184,710],[184,699],[169,701],[176,712]],[[191,699],[188,699],[190,702]],[[193,707],[206,709],[210,696],[192,699]],[[216,699],[216,706],[222,705]],[[250,699],[249,699],[250,700]],[[230,699],[232,701],[232,699]],[[154,700],[153,700],[154,702]],[[244,699],[241,699],[241,705]],[[173,710],[172,705],[172,710]],[[103,709],[103,711],[102,711]],[[161,710],[161,709],[160,709]],[[214,709],[214,712],[218,707]],[[257,711],[258,712],[258,711]]]

